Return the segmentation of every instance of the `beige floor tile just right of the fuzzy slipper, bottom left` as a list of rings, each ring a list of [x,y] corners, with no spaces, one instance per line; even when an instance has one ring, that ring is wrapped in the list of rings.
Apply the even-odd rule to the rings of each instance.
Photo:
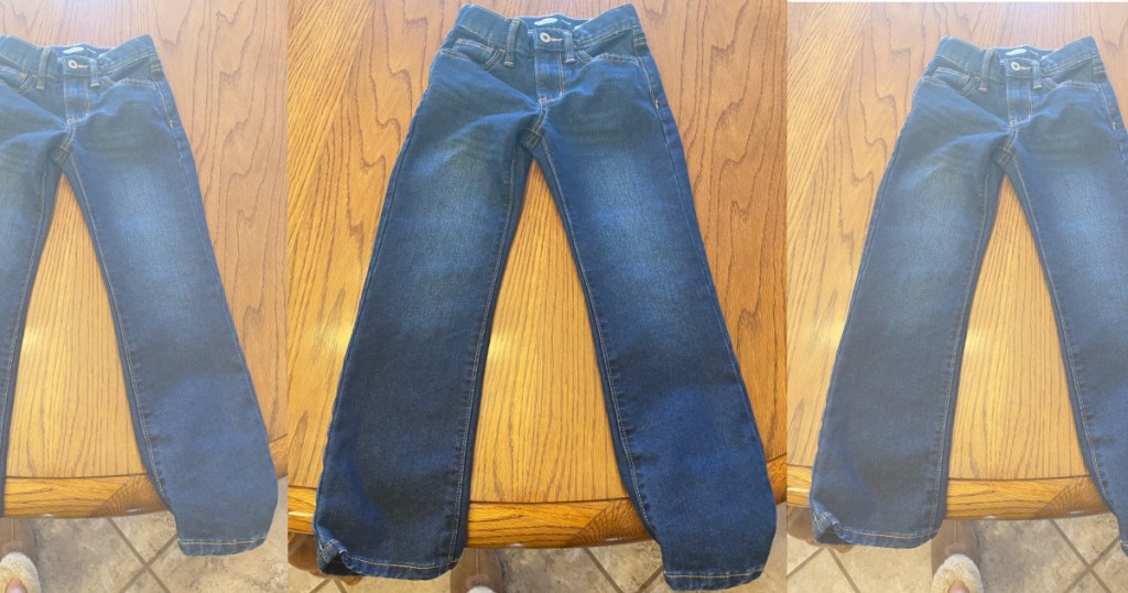
[[[107,518],[35,520],[44,591],[117,591],[141,560]]]

